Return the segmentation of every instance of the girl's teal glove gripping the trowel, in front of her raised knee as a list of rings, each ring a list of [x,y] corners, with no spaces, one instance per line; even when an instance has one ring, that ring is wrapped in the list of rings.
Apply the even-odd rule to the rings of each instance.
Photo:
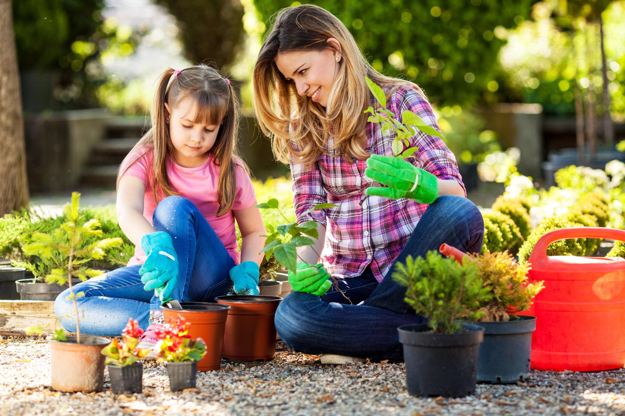
[[[170,301],[178,281],[178,257],[171,236],[165,231],[146,234],[141,239],[141,248],[148,254],[139,269],[143,289],[156,290],[162,302]]]

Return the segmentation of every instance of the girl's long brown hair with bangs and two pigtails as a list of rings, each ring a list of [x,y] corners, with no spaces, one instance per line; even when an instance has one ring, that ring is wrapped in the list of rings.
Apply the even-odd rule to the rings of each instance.
[[[148,172],[154,201],[158,204],[166,196],[179,195],[171,186],[167,175],[168,158],[173,159],[175,149],[169,137],[168,110],[165,104],[167,103],[169,109],[173,110],[181,100],[191,97],[197,103],[193,122],[219,125],[217,138],[209,152],[212,153],[214,163],[220,167],[217,216],[224,215],[231,210],[234,203],[236,165],[241,165],[249,175],[249,169],[237,151],[239,100],[234,94],[232,85],[216,69],[207,65],[188,67],[176,77],[173,76],[174,72],[168,68],[159,76],[152,103],[151,127],[129,153],[132,155],[138,150],[139,155],[134,157],[134,160],[129,160],[128,156],[122,162],[117,186],[119,188],[119,180],[131,165],[154,150],[153,170]]]

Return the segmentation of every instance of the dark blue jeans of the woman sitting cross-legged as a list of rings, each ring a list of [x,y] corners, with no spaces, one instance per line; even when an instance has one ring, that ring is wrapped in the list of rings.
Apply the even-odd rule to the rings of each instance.
[[[469,253],[479,253],[484,238],[484,220],[466,198],[440,196],[423,216],[394,263],[424,256],[442,243]],[[276,311],[276,329],[282,341],[305,354],[341,354],[370,359],[403,357],[397,327],[427,322],[414,314],[404,301],[406,288],[391,274],[394,263],[381,283],[371,268],[356,278],[338,279],[353,304],[334,288],[324,296],[293,292]]]

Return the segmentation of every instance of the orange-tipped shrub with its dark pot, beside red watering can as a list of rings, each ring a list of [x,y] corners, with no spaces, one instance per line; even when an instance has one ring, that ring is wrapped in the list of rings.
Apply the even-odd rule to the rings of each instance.
[[[516,383],[526,379],[536,317],[518,313],[529,309],[534,296],[544,288],[543,282],[529,283],[529,263],[516,263],[506,251],[470,256],[470,259],[474,260],[484,288],[491,294],[481,302],[478,311],[482,314],[475,322],[484,327],[477,381]]]

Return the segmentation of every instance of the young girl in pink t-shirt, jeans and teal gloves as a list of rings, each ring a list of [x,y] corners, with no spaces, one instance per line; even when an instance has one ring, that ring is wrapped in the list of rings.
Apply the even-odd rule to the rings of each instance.
[[[81,331],[118,336],[133,317],[147,327],[139,346],[148,348],[163,321],[161,302],[214,302],[233,284],[236,293],[258,293],[264,227],[247,166],[237,157],[238,117],[230,81],[211,67],[161,74],[151,128],[118,176],[119,226],[136,244],[135,256],[74,288],[84,292]],[[76,331],[68,291],[55,311],[65,329]]]

